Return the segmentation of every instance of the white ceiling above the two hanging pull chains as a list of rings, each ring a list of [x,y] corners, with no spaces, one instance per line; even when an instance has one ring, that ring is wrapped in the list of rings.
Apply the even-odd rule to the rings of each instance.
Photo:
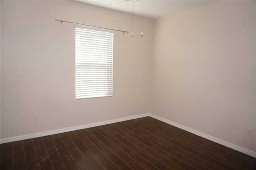
[[[74,1],[132,14],[132,0]],[[156,19],[213,2],[216,2],[216,0],[143,0],[143,15],[146,18]],[[134,14],[142,15],[142,0],[134,0]]]

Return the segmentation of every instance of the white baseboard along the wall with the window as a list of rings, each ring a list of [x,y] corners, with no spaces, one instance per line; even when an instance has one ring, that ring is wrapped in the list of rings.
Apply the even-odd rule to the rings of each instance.
[[[3,144],[3,143],[8,143],[8,142],[15,142],[15,141],[18,141],[18,140],[38,138],[38,137],[42,137],[42,136],[48,136],[48,135],[59,134],[59,133],[64,133],[64,132],[70,132],[70,131],[80,130],[80,129],[85,129],[85,128],[92,128],[92,127],[102,126],[102,125],[111,124],[111,123],[123,122],[123,121],[126,121],[126,120],[143,118],[143,117],[147,117],[147,116],[149,116],[149,113],[139,114],[139,115],[136,115],[136,116],[129,116],[129,117],[125,117],[125,118],[119,118],[119,119],[114,119],[114,120],[106,120],[106,121],[103,121],[103,122],[90,123],[90,124],[85,124],[85,125],[80,125],[80,126],[73,126],[73,127],[69,127],[69,128],[50,130],[50,131],[46,131],[46,132],[26,134],[26,135],[22,135],[22,136],[11,137],[11,138],[3,138],[3,139],[0,140],[0,143]]]

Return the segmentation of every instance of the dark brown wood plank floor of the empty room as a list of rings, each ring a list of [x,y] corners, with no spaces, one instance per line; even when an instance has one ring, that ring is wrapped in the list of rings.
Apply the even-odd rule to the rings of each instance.
[[[150,117],[1,144],[1,170],[256,170],[256,158]]]

